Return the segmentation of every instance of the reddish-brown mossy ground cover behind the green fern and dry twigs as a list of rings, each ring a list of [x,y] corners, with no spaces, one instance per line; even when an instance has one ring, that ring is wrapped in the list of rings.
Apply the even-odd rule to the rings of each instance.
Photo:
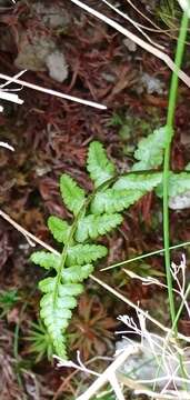
[[[46,226],[48,216],[52,213],[69,218],[59,194],[60,174],[68,172],[87,190],[91,188],[86,172],[86,156],[92,139],[104,144],[119,170],[128,170],[132,163],[132,149],[138,140],[164,122],[170,79],[170,71],[161,61],[141,49],[130,51],[121,34],[89,17],[69,0],[63,6],[61,1],[54,3],[60,8],[64,7],[69,16],[69,22],[62,30],[47,24],[28,1],[18,1],[16,6],[9,2],[9,7],[7,3],[6,7],[0,6],[0,71],[9,74],[18,72],[16,59],[22,51],[23,34],[28,43],[34,34],[44,37],[63,51],[68,78],[62,83],[56,82],[46,69],[38,70],[37,67],[36,71],[28,71],[24,79],[68,94],[99,101],[108,109],[98,111],[23,88],[20,94],[24,104],[18,107],[7,103],[4,113],[0,116],[0,139],[16,148],[14,153],[0,149],[0,207],[30,232],[51,244],[53,242]],[[121,3],[131,18],[150,27],[130,4],[126,1]],[[49,4],[50,1],[46,1],[47,8]],[[90,1],[90,4],[97,6],[97,1]],[[98,9],[122,21],[103,4],[99,3]],[[144,1],[141,1],[140,9],[147,12]],[[152,12],[149,12],[149,17],[166,29],[163,22],[157,19],[154,10]],[[133,30],[129,22],[124,21],[124,24]],[[172,56],[174,39],[164,33],[152,33],[152,38],[166,46],[166,51]],[[187,51],[189,52],[189,47]],[[188,71],[188,60],[186,68]],[[143,73],[161,81],[161,93],[150,93],[142,87]],[[122,120],[121,126],[116,124],[118,116]],[[172,168],[181,170],[189,161],[190,150],[189,92],[183,84],[180,88],[176,123]],[[128,133],[121,131],[122,126],[128,126]],[[126,213],[121,229],[104,239],[110,248],[107,263],[161,248],[160,216],[161,202],[152,193],[132,207]],[[172,243],[189,240],[189,211],[171,212]],[[0,399],[56,400],[59,393],[62,396],[60,398],[69,399],[74,396],[80,379],[71,370],[58,371],[47,360],[34,363],[24,340],[31,321],[38,318],[40,294],[37,286],[42,276],[38,267],[29,263],[30,253],[31,248],[26,239],[1,219],[0,289],[17,289],[19,300],[0,321]],[[180,254],[179,251],[173,257],[178,260]],[[152,258],[147,263],[151,269],[162,271],[162,258]],[[142,267],[142,263],[138,263],[133,268],[138,270]],[[101,278],[133,301],[141,299],[147,304],[152,297],[152,289],[134,284],[120,270],[101,273]],[[71,354],[73,351],[74,357],[76,348],[82,351],[86,359],[97,353],[112,354],[116,318],[126,311],[126,306],[89,282],[70,328],[71,332],[77,332],[76,339],[71,341]],[[98,318],[93,323],[94,314]],[[189,329],[186,321],[182,327],[184,330]],[[81,334],[86,337],[86,348]],[[101,337],[104,338],[103,341],[100,340]],[[102,366],[98,363],[97,368],[101,369]]]

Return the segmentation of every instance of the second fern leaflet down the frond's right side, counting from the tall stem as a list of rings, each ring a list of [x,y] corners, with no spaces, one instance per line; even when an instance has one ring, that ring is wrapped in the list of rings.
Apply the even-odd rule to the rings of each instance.
[[[120,212],[128,209],[143,194],[144,192],[140,190],[107,189],[96,194],[91,203],[91,212],[94,214]]]

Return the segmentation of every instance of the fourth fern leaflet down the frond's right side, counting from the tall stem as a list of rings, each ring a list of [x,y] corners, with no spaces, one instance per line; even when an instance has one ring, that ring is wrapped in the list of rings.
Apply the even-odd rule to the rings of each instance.
[[[67,266],[96,261],[107,256],[107,248],[101,244],[77,244],[68,250]]]

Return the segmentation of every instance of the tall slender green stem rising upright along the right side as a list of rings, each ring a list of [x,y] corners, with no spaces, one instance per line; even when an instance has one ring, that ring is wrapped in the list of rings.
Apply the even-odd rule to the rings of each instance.
[[[171,141],[173,138],[173,126],[174,126],[174,112],[177,104],[177,94],[178,94],[178,70],[182,63],[182,57],[184,51],[186,37],[188,31],[188,16],[184,12],[181,20],[180,33],[177,44],[176,53],[176,72],[172,73],[170,94],[169,94],[169,107],[168,107],[168,117],[167,117],[167,136],[168,143],[164,151],[164,162],[163,162],[163,239],[164,239],[164,260],[166,260],[166,272],[167,272],[167,283],[168,283],[168,296],[170,303],[170,314],[172,324],[176,320],[176,308],[174,308],[174,298],[172,291],[172,277],[170,271],[170,230],[169,230],[169,173],[170,173],[170,152],[171,152]],[[178,336],[178,329],[174,326],[174,334]]]

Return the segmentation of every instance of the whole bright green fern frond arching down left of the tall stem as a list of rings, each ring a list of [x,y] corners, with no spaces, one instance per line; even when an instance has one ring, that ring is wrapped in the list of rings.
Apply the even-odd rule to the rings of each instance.
[[[161,141],[162,138],[162,141]],[[151,141],[143,139],[137,150],[138,162],[132,171],[118,178],[114,164],[107,158],[106,151],[98,141],[91,142],[88,153],[87,169],[94,183],[94,190],[88,194],[74,180],[62,174],[60,191],[67,208],[73,213],[73,222],[58,217],[50,217],[48,227],[53,238],[62,243],[61,253],[37,251],[31,260],[47,270],[52,269],[49,278],[40,283],[43,297],[40,301],[40,316],[44,321],[49,336],[52,340],[54,352],[66,359],[66,329],[72,316],[72,309],[77,306],[77,297],[82,293],[82,281],[93,271],[93,263],[107,256],[107,248],[96,244],[93,241],[107,234],[122,222],[121,212],[139,200],[146,192],[159,187],[162,181],[162,172],[148,171],[144,169],[157,168],[162,162],[164,148],[163,131],[156,131]],[[159,146],[151,146],[152,140],[159,141]],[[162,144],[161,144],[162,143]],[[143,147],[149,146],[149,154],[143,153]],[[154,163],[150,159],[153,151]],[[136,157],[136,153],[134,153]]]

